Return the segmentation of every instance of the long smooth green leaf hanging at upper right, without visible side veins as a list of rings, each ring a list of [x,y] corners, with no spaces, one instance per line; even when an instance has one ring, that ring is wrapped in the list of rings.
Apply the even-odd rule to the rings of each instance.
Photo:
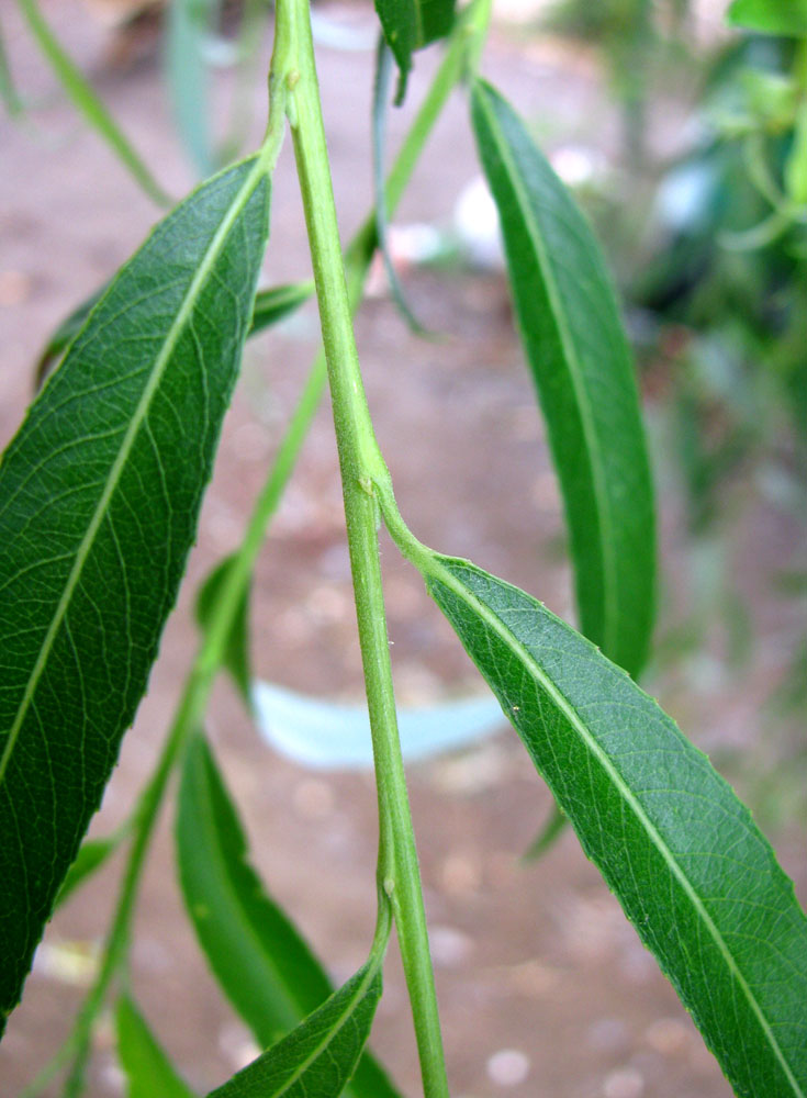
[[[614,291],[589,225],[507,103],[477,81],[472,114],[563,494],[581,628],[636,676],[653,624],[655,530]]]

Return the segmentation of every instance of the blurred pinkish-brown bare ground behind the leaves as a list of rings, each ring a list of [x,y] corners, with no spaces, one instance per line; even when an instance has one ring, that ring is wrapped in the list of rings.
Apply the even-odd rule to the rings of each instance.
[[[109,38],[83,8],[72,0],[44,7],[159,178],[177,194],[186,190],[191,180],[168,121],[154,52],[146,47],[128,67],[111,64]],[[23,414],[43,333],[109,277],[155,216],[63,103],[11,9],[3,0],[14,74],[42,105],[30,127],[3,121],[0,130],[3,442]],[[365,104],[372,56],[367,51],[321,53],[337,204],[347,236],[370,201]],[[595,134],[606,146],[613,139],[613,119],[585,56],[527,48],[498,34],[484,67],[527,116],[546,120],[546,130]],[[418,61],[413,101],[431,68],[431,58]],[[256,110],[262,110],[260,89]],[[402,221],[445,224],[450,219],[458,189],[475,173],[464,111],[457,94],[418,169]],[[403,125],[404,117],[396,115],[393,137]],[[287,149],[273,195],[266,280],[296,279],[307,270]],[[570,617],[569,570],[556,548],[558,495],[503,281],[497,274],[414,271],[406,283],[424,323],[447,339],[410,336],[385,299],[370,301],[358,324],[370,404],[401,508],[427,544],[472,557]],[[249,345],[189,584],[125,740],[93,828],[98,833],[125,816],[155,760],[195,643],[190,592],[237,544],[315,345],[311,310]],[[665,553],[670,572],[676,573],[685,550],[674,496],[664,506]],[[763,584],[761,562],[783,560],[793,538],[789,526],[773,514],[759,508],[754,514],[732,558],[752,589]],[[479,691],[475,672],[418,578],[386,544],[383,560],[401,697],[424,701]],[[762,614],[763,625],[780,628],[782,613]],[[253,621],[262,677],[324,696],[359,695],[327,408],[262,557]],[[744,747],[754,732],[758,703],[783,659],[777,649],[773,665],[770,659],[755,663],[741,691],[719,684],[694,694],[671,688],[668,701],[702,746],[713,751]],[[370,776],[313,774],[278,758],[258,739],[226,684],[215,694],[209,729],[264,879],[334,978],[347,976],[361,963],[372,933]],[[411,794],[456,1098],[727,1098],[729,1088],[692,1022],[574,837],[564,834],[539,864],[520,865],[550,802],[514,736],[503,731],[463,754],[413,766]],[[134,988],[188,1080],[206,1093],[253,1049],[218,995],[182,912],[170,815],[139,906]],[[782,832],[781,856],[804,898],[807,861],[796,830]],[[119,872],[116,862],[51,926],[0,1049],[2,1098],[19,1094],[67,1032]],[[417,1065],[396,956],[388,968],[372,1044],[402,1093],[415,1096]],[[97,1035],[89,1094],[111,1098],[122,1091],[107,1022]]]

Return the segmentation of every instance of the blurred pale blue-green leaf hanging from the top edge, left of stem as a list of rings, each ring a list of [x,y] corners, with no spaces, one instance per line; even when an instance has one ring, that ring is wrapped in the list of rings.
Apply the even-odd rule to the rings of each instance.
[[[210,132],[205,48],[220,0],[170,0],[166,29],[166,83],[179,135],[200,176],[216,167]]]

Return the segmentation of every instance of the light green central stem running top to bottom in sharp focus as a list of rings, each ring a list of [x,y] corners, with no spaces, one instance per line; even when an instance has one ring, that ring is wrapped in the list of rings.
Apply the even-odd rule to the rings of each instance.
[[[354,338],[305,0],[280,0],[288,116],[320,303],[339,451],[348,548],[379,797],[379,886],[390,898],[412,1001],[424,1091],[447,1098],[437,996],[406,793],[377,538],[373,482],[389,479],[370,421]]]

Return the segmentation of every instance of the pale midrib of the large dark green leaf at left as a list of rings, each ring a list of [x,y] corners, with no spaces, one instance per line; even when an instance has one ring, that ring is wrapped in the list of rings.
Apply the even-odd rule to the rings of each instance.
[[[227,169],[227,170],[232,171],[233,169]],[[191,284],[188,288],[188,292],[186,293],[182,304],[180,305],[179,312],[177,313],[173,323],[171,324],[166,334],[162,348],[155,360],[152,370],[152,377],[149,378],[148,383],[146,384],[146,388],[144,389],[142,396],[137,402],[137,406],[135,408],[132,421],[121,442],[121,449],[119,450],[117,456],[112,464],[109,477],[104,484],[103,492],[101,493],[101,497],[87,527],[87,533],[85,534],[83,538],[81,539],[81,542],[79,544],[78,549],[76,550],[76,562],[70,571],[69,576],[67,578],[67,582],[65,584],[65,591],[61,595],[61,598],[58,602],[51,625],[48,626],[47,632],[45,634],[45,637],[43,639],[42,647],[40,649],[40,654],[36,659],[36,662],[29,676],[29,681],[25,685],[25,692],[20,703],[20,708],[18,709],[14,722],[12,724],[9,730],[9,738],[5,742],[2,758],[0,758],[0,786],[2,786],[2,783],[5,778],[5,772],[9,768],[11,755],[16,746],[20,732],[22,731],[23,724],[27,716],[27,712],[33,701],[34,694],[36,692],[36,687],[38,686],[40,679],[42,677],[42,673],[45,669],[48,657],[51,654],[51,650],[56,640],[56,635],[61,626],[61,623],[65,619],[70,602],[72,601],[72,596],[81,578],[83,567],[87,563],[87,559],[94,545],[96,535],[98,534],[101,523],[103,522],[104,516],[108,512],[110,501],[112,500],[112,496],[115,490],[117,489],[121,477],[123,474],[124,467],[134,447],[137,434],[148,414],[152,400],[159,386],[159,383],[162,380],[162,377],[166,372],[166,369],[168,367],[168,363],[170,361],[177,341],[180,337],[180,334],[184,328],[187,322],[189,321],[190,316],[192,315],[197,300],[201,295],[202,288],[206,282],[209,276],[211,274],[213,265],[215,264],[222,248],[224,247],[226,238],[229,235],[229,231],[233,227],[233,224],[235,223],[238,215],[244,210],[246,203],[251,198],[253,192],[255,191],[258,182],[260,181],[264,175],[265,175],[265,167],[262,165],[261,159],[258,158],[253,167],[253,170],[248,173],[247,178],[244,180],[244,183],[242,184],[240,189],[238,190],[231,205],[228,206],[222,220],[221,225],[216,229],[215,235],[213,236],[213,239],[211,240],[202,258],[202,261],[199,265],[197,273],[193,276]]]

